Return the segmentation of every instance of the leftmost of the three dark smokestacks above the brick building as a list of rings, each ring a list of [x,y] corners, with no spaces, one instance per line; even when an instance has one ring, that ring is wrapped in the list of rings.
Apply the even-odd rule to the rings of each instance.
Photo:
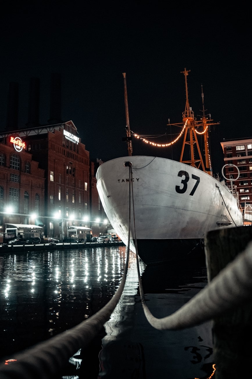
[[[19,84],[9,83],[6,130],[17,130],[19,111]]]

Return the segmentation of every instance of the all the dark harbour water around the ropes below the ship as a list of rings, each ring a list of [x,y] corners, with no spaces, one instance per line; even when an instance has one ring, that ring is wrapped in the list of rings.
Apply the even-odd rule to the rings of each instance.
[[[125,247],[0,255],[2,362],[101,309],[119,287],[125,259]],[[142,310],[136,267],[130,253],[124,292],[110,320],[57,379],[210,377],[211,323],[179,331],[154,329]],[[157,318],[175,312],[207,284],[204,262],[140,262],[140,271],[147,305]]]

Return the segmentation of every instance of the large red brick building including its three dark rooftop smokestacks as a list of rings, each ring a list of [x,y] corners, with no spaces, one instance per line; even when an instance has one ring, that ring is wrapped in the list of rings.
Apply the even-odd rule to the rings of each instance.
[[[17,86],[11,83],[7,124],[0,132],[0,228],[8,222],[43,226],[43,235],[66,240],[107,232],[96,189],[101,161],[90,161],[73,121],[60,117],[60,78],[51,78],[50,118],[39,124],[39,80],[30,81],[28,122],[17,127]],[[11,138],[23,146],[15,150]],[[39,200],[38,200],[39,199]],[[7,215],[9,205],[14,210]],[[35,217],[32,215],[36,214]],[[33,217],[33,218],[32,218]]]

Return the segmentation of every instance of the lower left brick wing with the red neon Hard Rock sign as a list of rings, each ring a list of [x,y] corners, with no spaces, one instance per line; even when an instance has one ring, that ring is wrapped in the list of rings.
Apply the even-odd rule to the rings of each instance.
[[[18,134],[10,132],[0,139],[0,229],[6,222],[39,225],[44,211],[45,172]]]

